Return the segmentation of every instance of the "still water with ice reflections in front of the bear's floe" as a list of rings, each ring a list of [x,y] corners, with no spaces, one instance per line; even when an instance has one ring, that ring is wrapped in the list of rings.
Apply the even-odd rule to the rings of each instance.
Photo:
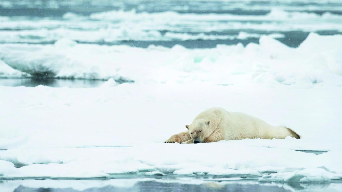
[[[211,192],[211,191],[339,191],[342,183],[259,183],[257,181],[203,181],[202,179],[110,179],[110,180],[21,180],[0,181],[4,192]]]

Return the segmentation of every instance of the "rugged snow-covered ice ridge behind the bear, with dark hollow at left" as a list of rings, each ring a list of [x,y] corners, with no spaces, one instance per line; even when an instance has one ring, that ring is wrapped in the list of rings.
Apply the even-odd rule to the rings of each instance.
[[[341,36],[311,33],[299,48],[261,36],[259,44],[218,45],[210,49],[187,49],[180,45],[100,46],[61,39],[54,45],[2,44],[0,58],[11,68],[36,77],[113,78],[117,83],[341,86]],[[3,75],[11,73],[4,71]]]

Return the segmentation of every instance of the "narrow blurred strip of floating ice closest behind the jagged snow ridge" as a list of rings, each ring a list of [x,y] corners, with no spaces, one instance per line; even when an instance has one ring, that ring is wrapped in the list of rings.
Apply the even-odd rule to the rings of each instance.
[[[15,22],[15,21],[13,21]],[[60,25],[63,25],[61,23]],[[42,24],[43,25],[43,24]],[[96,25],[96,24],[95,24]],[[28,26],[29,27],[29,26]],[[95,44],[120,44],[125,41],[147,41],[151,42],[172,42],[172,41],[189,41],[189,40],[245,40],[249,38],[260,38],[265,34],[239,32],[233,35],[214,35],[199,32],[197,34],[187,33],[183,30],[178,32],[166,32],[163,34],[160,30],[144,30],[144,29],[101,29],[92,30],[87,29],[86,26],[82,31],[73,28],[68,29],[30,29],[18,31],[1,31],[1,43],[35,43],[35,44],[53,44],[61,39],[70,39],[82,43],[95,43]],[[1,29],[1,27],[0,27]],[[271,33],[267,36],[272,38],[284,38],[285,35],[281,33]]]

